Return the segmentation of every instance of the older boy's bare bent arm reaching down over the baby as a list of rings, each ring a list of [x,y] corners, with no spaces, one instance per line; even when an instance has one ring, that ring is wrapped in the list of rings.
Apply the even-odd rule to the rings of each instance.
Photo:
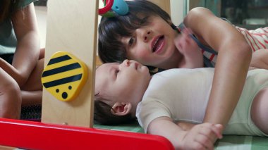
[[[225,126],[245,84],[252,55],[250,46],[233,25],[217,18],[207,8],[194,8],[184,23],[200,42],[218,51],[204,122]]]

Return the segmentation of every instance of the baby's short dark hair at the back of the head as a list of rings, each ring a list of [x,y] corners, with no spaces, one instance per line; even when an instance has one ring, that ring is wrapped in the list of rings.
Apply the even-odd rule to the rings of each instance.
[[[114,115],[111,113],[112,107],[104,103],[100,96],[95,95],[94,101],[94,120],[96,123],[102,125],[120,125],[135,120],[130,113],[127,115]]]

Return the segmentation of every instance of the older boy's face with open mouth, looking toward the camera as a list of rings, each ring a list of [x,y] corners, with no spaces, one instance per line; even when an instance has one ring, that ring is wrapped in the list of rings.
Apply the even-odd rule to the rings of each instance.
[[[174,44],[178,33],[159,16],[148,19],[150,23],[135,30],[133,37],[123,37],[121,40],[126,45],[129,59],[159,67],[169,63],[174,53],[179,54]]]

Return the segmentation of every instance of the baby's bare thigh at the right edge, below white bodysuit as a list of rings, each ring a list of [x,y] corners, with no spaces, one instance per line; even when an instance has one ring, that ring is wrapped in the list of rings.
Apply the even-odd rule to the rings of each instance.
[[[260,90],[255,96],[250,113],[255,125],[268,134],[268,87]]]

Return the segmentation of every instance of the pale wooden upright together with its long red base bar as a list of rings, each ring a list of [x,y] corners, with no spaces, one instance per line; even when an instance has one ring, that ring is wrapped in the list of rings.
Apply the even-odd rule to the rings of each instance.
[[[48,3],[45,64],[56,51],[85,62],[90,75],[77,99],[59,101],[43,90],[42,123],[0,118],[0,145],[21,149],[173,149],[168,139],[92,128],[97,0]]]

